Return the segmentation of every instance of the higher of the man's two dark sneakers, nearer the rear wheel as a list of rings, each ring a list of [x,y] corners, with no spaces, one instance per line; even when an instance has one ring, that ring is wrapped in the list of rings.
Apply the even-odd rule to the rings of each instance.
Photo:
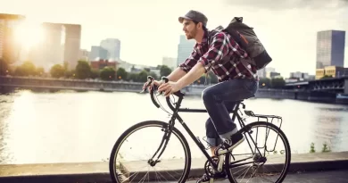
[[[225,140],[216,148],[215,155],[219,156],[220,154],[227,154],[228,152],[231,152],[234,148],[236,148],[236,146],[240,145],[244,139],[244,136],[240,132],[237,132],[231,136],[230,140]]]

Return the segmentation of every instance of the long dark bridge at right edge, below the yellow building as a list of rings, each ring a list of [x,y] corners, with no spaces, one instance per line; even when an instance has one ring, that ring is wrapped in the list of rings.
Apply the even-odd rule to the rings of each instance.
[[[348,95],[348,77],[287,83],[286,88]]]

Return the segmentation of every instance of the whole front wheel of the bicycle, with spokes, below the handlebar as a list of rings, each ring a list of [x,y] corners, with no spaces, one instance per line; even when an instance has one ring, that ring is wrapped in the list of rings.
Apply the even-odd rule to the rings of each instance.
[[[174,127],[168,144],[165,144],[168,127],[166,122],[144,121],[123,132],[110,156],[112,181],[186,182],[191,168],[191,151],[186,138]],[[157,158],[159,155],[160,159]]]

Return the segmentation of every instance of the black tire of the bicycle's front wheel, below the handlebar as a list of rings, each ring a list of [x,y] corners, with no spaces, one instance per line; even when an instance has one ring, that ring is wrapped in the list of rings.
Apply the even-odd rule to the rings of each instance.
[[[133,125],[132,127],[128,128],[126,131],[124,131],[120,137],[118,138],[118,140],[116,141],[116,143],[114,144],[114,146],[112,147],[112,153],[110,154],[110,161],[109,161],[109,171],[110,171],[110,175],[112,178],[112,182],[114,183],[120,183],[120,180],[117,178],[118,177],[118,173],[116,172],[116,164],[115,164],[115,160],[117,158],[117,153],[120,150],[120,146],[122,146],[123,141],[130,136],[133,132],[139,130],[139,129],[144,129],[146,127],[159,127],[159,128],[164,128],[166,129],[168,127],[169,123],[167,122],[163,122],[163,121],[142,121],[139,122],[135,125]],[[190,150],[190,146],[188,146],[187,140],[186,138],[182,135],[182,133],[175,127],[172,127],[172,134],[176,137],[178,137],[181,145],[184,147],[184,151],[186,150],[185,154],[186,154],[186,163],[185,163],[185,167],[184,167],[184,171],[181,175],[181,177],[179,178],[179,183],[184,183],[186,182],[186,179],[189,175],[189,172],[191,170],[191,150]],[[172,136],[170,136],[171,138]]]

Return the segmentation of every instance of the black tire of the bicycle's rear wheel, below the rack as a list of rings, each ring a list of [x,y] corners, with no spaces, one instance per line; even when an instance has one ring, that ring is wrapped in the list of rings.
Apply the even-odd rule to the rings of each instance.
[[[242,133],[244,133],[248,129],[252,129],[254,126],[266,126],[266,127],[271,128],[271,129],[274,129],[275,131],[277,131],[279,133],[279,136],[282,137],[284,140],[284,143],[286,146],[286,165],[284,166],[280,177],[275,182],[275,183],[281,183],[286,178],[287,171],[289,170],[289,166],[290,166],[290,162],[291,162],[291,148],[290,148],[289,142],[287,140],[286,134],[283,132],[283,130],[279,129],[278,126],[276,126],[272,123],[269,123],[269,122],[265,122],[265,121],[256,121],[256,122],[249,123],[249,124],[245,125],[244,128],[240,129],[240,131]],[[229,154],[226,154],[225,164],[228,164],[230,162],[230,158],[231,158],[231,156]],[[232,183],[237,183],[236,179],[232,175],[232,172],[229,170],[228,166],[225,167],[225,171],[228,175],[228,180]]]

